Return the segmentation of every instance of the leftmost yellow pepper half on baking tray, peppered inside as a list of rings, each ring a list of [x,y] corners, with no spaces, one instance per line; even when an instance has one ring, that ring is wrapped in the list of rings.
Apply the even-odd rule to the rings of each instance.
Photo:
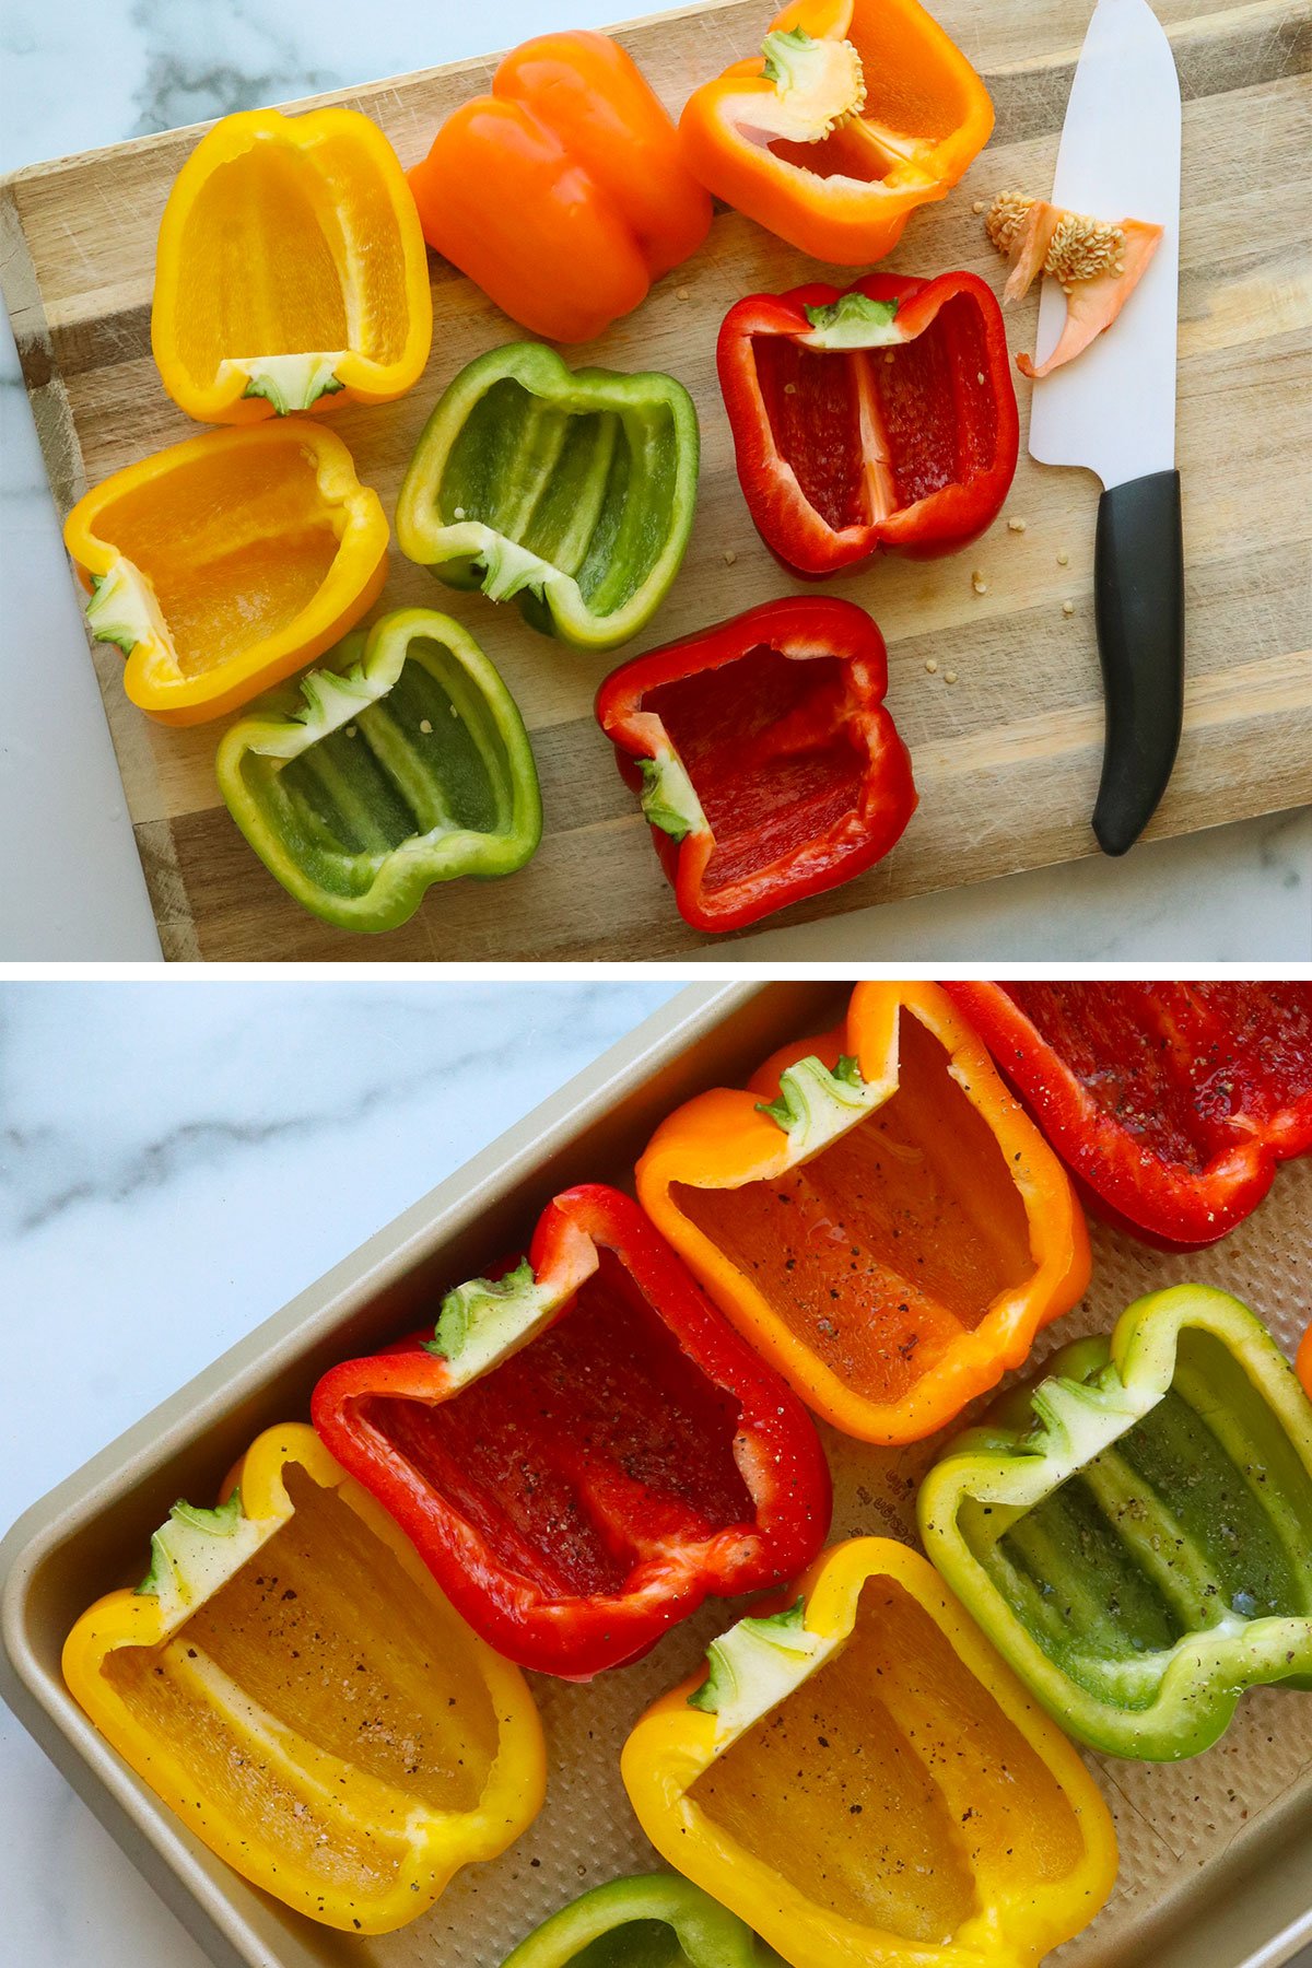
[[[389,1933],[537,1816],[533,1698],[313,1429],[260,1435],[224,1496],[173,1507],[144,1584],[69,1633],[65,1681],[246,1879]]]

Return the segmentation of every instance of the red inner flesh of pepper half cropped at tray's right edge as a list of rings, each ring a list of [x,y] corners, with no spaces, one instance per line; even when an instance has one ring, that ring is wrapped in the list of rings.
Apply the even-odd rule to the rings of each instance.
[[[1308,1092],[1312,1010],[1296,984],[1003,990],[1117,1128],[1194,1175]]]

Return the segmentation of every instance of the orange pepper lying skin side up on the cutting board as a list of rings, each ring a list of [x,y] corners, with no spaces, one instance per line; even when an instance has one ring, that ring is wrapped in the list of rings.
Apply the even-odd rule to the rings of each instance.
[[[710,199],[661,102],[604,33],[502,61],[409,173],[423,236],[511,321],[588,342],[706,238]]]

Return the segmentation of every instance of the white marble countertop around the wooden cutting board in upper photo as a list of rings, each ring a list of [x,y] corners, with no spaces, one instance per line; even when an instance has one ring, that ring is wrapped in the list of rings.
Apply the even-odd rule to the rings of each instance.
[[[570,0],[570,26],[641,12]],[[149,130],[506,47],[561,24],[555,0],[0,0],[0,169]],[[0,325],[0,958],[159,954],[75,588]],[[386,954],[370,951],[370,956]],[[1312,956],[1312,811],[1125,862],[1072,862],[828,923],[767,929],[708,960]]]

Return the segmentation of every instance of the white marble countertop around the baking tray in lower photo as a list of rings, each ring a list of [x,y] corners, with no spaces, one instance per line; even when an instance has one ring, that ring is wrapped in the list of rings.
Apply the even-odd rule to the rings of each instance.
[[[0,1535],[669,996],[0,986]],[[205,1968],[4,1706],[0,1771],[0,1958]]]

